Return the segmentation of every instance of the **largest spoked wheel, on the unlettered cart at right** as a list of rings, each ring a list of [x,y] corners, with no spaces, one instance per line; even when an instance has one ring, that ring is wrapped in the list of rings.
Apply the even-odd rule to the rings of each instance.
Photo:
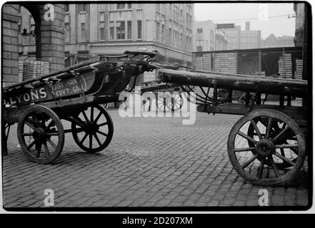
[[[265,186],[292,180],[306,156],[299,125],[276,110],[255,110],[238,120],[229,134],[228,152],[241,177]]]

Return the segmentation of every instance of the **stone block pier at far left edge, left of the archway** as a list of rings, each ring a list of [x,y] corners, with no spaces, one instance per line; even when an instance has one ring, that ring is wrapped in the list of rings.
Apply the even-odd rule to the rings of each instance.
[[[5,4],[2,7],[2,75],[3,86],[19,81],[18,46],[19,5]]]

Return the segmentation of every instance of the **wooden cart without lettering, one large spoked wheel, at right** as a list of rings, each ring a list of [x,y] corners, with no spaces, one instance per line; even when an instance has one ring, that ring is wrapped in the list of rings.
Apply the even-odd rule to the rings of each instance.
[[[244,115],[231,129],[227,149],[231,164],[245,180],[279,185],[294,178],[304,165],[308,108],[284,105],[284,100],[306,98],[307,81],[164,68],[159,69],[159,78],[181,85],[188,98],[194,95],[199,112]],[[191,86],[199,87],[199,93],[191,93]],[[220,97],[220,89],[229,95]],[[232,102],[233,90],[246,92],[244,104]],[[279,95],[279,105],[265,103],[269,94]]]

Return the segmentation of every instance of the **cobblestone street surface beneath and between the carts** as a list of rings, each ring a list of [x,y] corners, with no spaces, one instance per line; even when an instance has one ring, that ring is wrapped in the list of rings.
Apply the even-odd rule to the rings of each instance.
[[[121,118],[109,110],[114,137],[104,151],[82,151],[71,134],[54,164],[27,160],[17,147],[16,125],[3,160],[4,207],[45,207],[44,190],[54,190],[55,207],[257,206],[261,187],[233,170],[226,140],[236,115],[197,113],[182,118]],[[66,128],[65,128],[66,129]],[[289,185],[264,187],[269,205],[308,204],[307,166]]]

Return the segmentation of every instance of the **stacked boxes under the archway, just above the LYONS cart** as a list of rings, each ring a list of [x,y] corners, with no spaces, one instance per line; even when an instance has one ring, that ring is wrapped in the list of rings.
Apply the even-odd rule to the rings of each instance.
[[[50,73],[50,63],[46,61],[20,61],[19,81],[44,76]]]

